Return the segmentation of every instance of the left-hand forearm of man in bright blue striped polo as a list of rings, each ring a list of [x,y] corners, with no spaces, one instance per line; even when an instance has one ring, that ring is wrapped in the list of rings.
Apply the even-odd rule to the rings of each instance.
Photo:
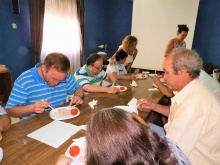
[[[24,117],[28,114],[31,114],[34,112],[34,104],[29,104],[26,106],[14,106],[13,108],[6,110],[7,114],[10,117]]]

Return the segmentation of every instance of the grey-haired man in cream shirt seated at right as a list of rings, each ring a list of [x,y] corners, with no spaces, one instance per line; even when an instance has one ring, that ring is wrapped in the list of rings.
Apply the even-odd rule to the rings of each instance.
[[[199,54],[185,48],[172,50],[163,63],[164,80],[175,92],[171,106],[147,99],[138,100],[140,110],[168,116],[166,136],[174,140],[190,162],[219,164],[220,101],[198,78],[202,68]]]

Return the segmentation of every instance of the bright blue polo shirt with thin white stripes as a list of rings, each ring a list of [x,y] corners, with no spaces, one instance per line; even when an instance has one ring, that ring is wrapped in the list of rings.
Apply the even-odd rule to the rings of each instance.
[[[42,63],[36,64],[35,67],[23,72],[15,80],[6,104],[6,110],[14,106],[34,104],[38,100],[48,100],[52,107],[57,107],[66,102],[67,94],[73,94],[76,89],[80,88],[70,74],[67,74],[65,81],[60,82],[55,87],[50,87],[37,71],[37,67],[40,65]],[[33,115],[35,113],[21,118],[21,120]]]

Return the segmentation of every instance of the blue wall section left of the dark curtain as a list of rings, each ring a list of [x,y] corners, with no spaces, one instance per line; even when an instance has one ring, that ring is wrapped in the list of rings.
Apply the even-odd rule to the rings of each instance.
[[[0,1],[0,64],[12,71],[13,80],[32,67],[27,0],[20,0],[20,14],[12,14],[11,0]],[[17,29],[12,29],[12,23]]]

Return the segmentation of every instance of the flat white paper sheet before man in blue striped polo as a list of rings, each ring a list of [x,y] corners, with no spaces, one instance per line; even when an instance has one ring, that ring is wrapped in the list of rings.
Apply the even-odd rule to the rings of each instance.
[[[83,127],[81,126],[55,120],[28,134],[27,136],[48,144],[54,148],[58,148],[82,128]]]

